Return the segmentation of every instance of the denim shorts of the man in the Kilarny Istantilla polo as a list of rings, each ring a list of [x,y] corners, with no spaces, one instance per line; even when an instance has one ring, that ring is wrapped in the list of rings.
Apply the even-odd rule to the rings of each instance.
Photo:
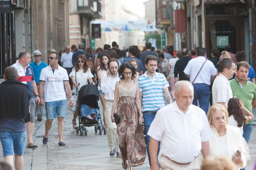
[[[46,119],[67,117],[67,100],[45,102]]]

